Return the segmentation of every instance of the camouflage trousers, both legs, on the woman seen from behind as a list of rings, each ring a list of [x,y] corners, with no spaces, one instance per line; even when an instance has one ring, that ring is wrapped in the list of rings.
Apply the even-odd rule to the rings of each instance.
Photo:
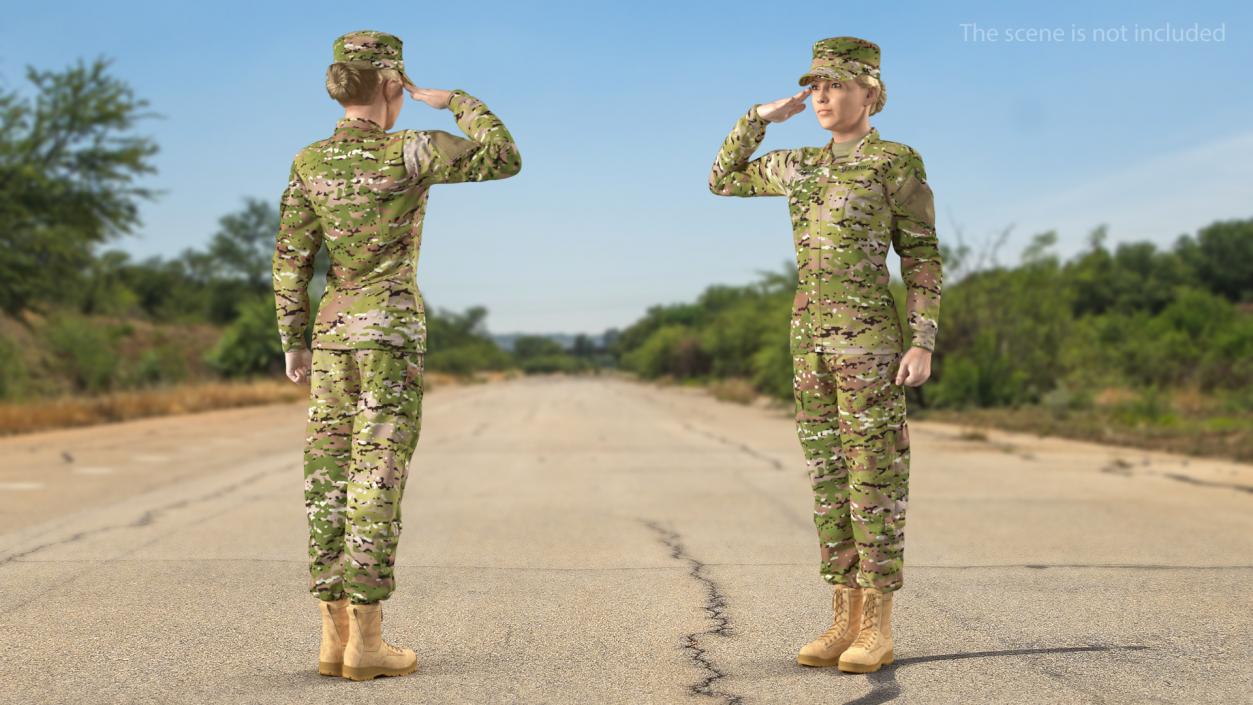
[[[421,353],[313,349],[304,443],[309,591],[386,600],[422,418]]]

